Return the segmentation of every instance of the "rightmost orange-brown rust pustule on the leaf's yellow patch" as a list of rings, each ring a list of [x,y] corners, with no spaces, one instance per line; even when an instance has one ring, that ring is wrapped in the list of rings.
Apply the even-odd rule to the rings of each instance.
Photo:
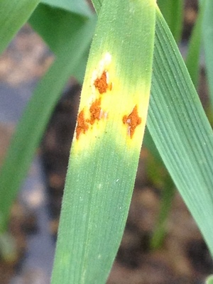
[[[128,133],[129,133],[130,138],[132,138],[133,133],[136,130],[136,127],[139,124],[141,124],[141,117],[138,116],[137,105],[133,108],[129,116],[126,116],[126,115],[123,116],[122,121],[123,121],[123,124],[128,124]]]

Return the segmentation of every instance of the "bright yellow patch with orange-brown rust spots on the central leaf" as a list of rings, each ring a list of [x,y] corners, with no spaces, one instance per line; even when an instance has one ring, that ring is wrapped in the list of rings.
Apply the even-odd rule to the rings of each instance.
[[[120,146],[141,144],[148,92],[143,80],[139,80],[137,86],[132,86],[131,82],[125,84],[116,66],[116,57],[105,53],[97,67],[89,67],[85,76],[73,150],[90,148],[94,140],[106,132],[114,133],[115,143]]]

